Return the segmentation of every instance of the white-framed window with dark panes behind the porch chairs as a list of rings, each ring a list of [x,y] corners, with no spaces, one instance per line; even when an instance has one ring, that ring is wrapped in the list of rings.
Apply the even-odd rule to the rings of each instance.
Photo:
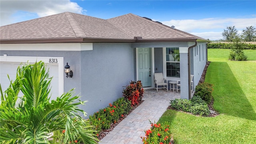
[[[179,48],[166,48],[166,76],[180,77]]]

